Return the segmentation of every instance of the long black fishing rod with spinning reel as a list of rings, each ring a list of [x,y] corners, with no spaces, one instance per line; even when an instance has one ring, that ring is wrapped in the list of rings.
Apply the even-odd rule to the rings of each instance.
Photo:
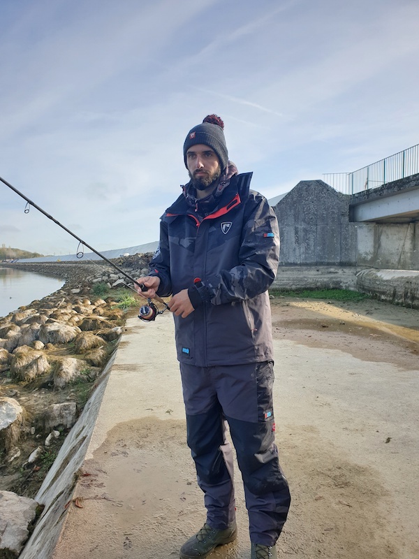
[[[13,187],[12,184],[10,184],[10,182],[7,182],[7,180],[3,179],[2,177],[0,177],[0,181],[3,182],[3,184],[6,184],[6,187],[9,187],[10,190],[13,190],[13,192],[15,192],[18,196],[20,196],[21,198],[23,198],[24,200],[27,201],[27,205],[24,208],[24,212],[25,214],[29,213],[30,207],[34,206],[34,208],[36,208],[36,210],[38,210],[38,212],[41,212],[41,214],[45,215],[45,217],[47,217],[48,219],[51,219],[52,222],[54,222],[54,224],[58,225],[59,227],[61,227],[61,229],[64,229],[64,231],[66,231],[68,234],[70,234],[72,237],[74,237],[75,239],[78,240],[79,245],[77,247],[77,252],[76,252],[76,256],[78,259],[82,259],[82,257],[84,256],[84,252],[80,249],[81,247],[87,247],[88,249],[90,249],[92,252],[94,252],[95,254],[97,254],[101,259],[103,259],[105,262],[108,262],[108,264],[110,264],[110,266],[113,266],[113,268],[115,268],[116,270],[118,270],[119,273],[121,273],[122,275],[124,275],[127,279],[129,279],[131,282],[133,282],[135,285],[138,285],[138,287],[141,289],[141,291],[147,291],[147,287],[144,284],[140,284],[136,279],[134,279],[131,275],[129,275],[128,273],[126,273],[124,270],[122,270],[122,268],[119,268],[119,266],[117,266],[117,264],[115,264],[114,262],[110,261],[108,258],[106,258],[106,256],[104,256],[103,254],[101,254],[100,252],[98,252],[96,249],[94,249],[93,247],[91,247],[90,245],[87,244],[87,242],[85,242],[84,240],[80,239],[80,237],[78,237],[78,235],[75,235],[75,233],[73,233],[73,231],[70,231],[70,229],[66,228],[66,226],[64,226],[63,224],[61,224],[60,222],[57,221],[57,219],[55,219],[54,217],[52,217],[52,215],[50,215],[49,213],[45,212],[45,210],[43,210],[42,208],[40,208],[36,203],[34,203],[33,201],[31,201],[27,196],[25,196],[24,194],[22,194],[22,192],[20,192],[19,190],[17,190],[17,188]],[[145,320],[145,321],[152,321],[156,319],[156,315],[157,314],[162,314],[166,309],[168,309],[168,305],[167,303],[165,303],[165,301],[163,301],[163,299],[161,297],[159,297],[158,295],[154,296],[154,298],[159,301],[159,303],[161,303],[162,305],[164,305],[164,309],[162,311],[159,311],[156,307],[156,305],[154,305],[154,303],[152,303],[151,299],[148,299],[148,305],[144,305],[143,307],[140,308],[140,313],[138,314],[138,318]]]

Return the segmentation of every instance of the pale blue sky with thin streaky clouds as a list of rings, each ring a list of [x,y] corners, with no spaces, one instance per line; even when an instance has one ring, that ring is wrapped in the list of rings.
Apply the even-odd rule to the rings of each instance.
[[[215,113],[267,198],[419,143],[418,0],[1,0],[0,177],[98,251],[159,239]],[[0,182],[0,246],[78,242]]]

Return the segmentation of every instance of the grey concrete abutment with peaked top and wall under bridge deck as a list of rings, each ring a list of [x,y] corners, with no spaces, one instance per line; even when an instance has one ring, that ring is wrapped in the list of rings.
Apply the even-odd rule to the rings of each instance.
[[[322,180],[299,182],[274,207],[280,266],[419,270],[419,224],[351,222],[352,201]]]

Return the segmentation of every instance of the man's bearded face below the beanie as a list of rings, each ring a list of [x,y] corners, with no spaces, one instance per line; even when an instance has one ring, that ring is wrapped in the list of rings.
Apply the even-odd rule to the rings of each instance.
[[[210,194],[221,176],[219,158],[214,150],[205,144],[193,145],[186,152],[186,164],[197,192],[205,196]]]

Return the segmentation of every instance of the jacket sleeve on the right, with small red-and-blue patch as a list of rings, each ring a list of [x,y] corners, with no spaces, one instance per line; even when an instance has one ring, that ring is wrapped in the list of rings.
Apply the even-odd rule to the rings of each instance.
[[[212,305],[250,299],[266,291],[277,275],[279,230],[277,217],[266,198],[249,194],[244,212],[238,266],[206,278],[201,298]]]

